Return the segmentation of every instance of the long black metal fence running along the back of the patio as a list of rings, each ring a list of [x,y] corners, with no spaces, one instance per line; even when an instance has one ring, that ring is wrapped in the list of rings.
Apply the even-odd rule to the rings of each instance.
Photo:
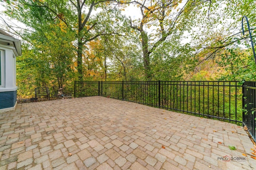
[[[236,81],[75,81],[75,97],[104,96],[242,124]]]

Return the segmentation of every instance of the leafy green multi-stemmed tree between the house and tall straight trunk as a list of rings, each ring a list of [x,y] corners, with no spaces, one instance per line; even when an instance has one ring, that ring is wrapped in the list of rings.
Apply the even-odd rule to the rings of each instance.
[[[50,64],[50,81],[53,85],[63,87],[74,77],[74,47],[70,32],[61,20],[42,26],[44,32],[32,34],[36,51],[40,51],[42,60]],[[67,31],[66,31],[67,30]]]

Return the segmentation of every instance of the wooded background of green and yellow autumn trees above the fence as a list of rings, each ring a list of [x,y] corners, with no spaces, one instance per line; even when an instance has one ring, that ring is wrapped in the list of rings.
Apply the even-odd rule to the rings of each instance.
[[[255,0],[4,0],[18,97],[74,80],[256,80]],[[125,14],[133,7],[140,16]],[[10,22],[16,20],[18,22]],[[22,23],[22,24],[21,24]]]

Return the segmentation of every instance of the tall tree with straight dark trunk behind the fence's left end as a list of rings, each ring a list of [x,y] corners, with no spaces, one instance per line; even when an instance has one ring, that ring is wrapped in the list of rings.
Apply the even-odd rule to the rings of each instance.
[[[105,16],[108,14],[112,16],[118,14],[118,11],[107,8],[107,2],[95,0],[9,0],[6,1],[7,10],[5,13],[30,27],[30,31],[42,31],[41,25],[48,25],[54,20],[60,20],[70,32],[73,31],[76,38],[73,44],[77,53],[78,77],[82,80],[84,74],[83,50],[86,44],[100,35],[116,33],[113,29],[102,30],[102,28],[96,28],[102,23],[106,25],[106,23],[112,22],[112,18],[108,18],[109,21],[102,20],[106,19]],[[97,8],[102,8],[104,12],[92,15],[92,11]]]

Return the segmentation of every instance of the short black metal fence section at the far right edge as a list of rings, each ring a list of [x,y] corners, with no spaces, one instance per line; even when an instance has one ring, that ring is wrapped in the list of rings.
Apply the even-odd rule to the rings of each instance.
[[[243,84],[243,125],[256,141],[256,82]]]

